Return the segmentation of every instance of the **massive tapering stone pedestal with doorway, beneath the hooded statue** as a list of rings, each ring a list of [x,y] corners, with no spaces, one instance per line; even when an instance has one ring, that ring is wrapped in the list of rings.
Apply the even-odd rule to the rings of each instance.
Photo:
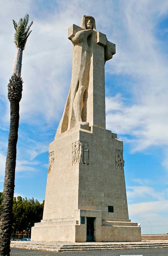
[[[140,241],[128,219],[123,142],[96,126],[79,124],[55,136],[43,220],[32,241]]]

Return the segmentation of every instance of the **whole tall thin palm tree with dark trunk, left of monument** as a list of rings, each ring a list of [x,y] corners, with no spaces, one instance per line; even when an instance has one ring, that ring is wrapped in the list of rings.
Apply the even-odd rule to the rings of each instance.
[[[13,20],[14,43],[16,44],[16,56],[14,60],[12,77],[8,84],[8,99],[10,101],[10,132],[8,138],[8,150],[6,156],[4,192],[0,216],[0,255],[10,255],[10,236],[12,233],[12,205],[14,197],[14,180],[16,167],[16,144],[19,127],[19,102],[22,98],[22,53],[26,46],[28,36],[32,32],[29,23],[29,15],[26,14],[18,23]]]

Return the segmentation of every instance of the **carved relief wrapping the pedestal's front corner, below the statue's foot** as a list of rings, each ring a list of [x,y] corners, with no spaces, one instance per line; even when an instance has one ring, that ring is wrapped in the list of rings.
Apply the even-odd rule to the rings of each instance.
[[[72,144],[72,165],[89,164],[89,143],[76,141]]]

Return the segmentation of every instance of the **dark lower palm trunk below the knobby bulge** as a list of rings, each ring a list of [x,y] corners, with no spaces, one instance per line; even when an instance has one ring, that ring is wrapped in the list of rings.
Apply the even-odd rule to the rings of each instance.
[[[6,157],[4,192],[0,216],[0,255],[10,255],[10,236],[12,234],[12,205],[16,167],[16,144],[18,140],[19,102],[10,102],[10,132]]]

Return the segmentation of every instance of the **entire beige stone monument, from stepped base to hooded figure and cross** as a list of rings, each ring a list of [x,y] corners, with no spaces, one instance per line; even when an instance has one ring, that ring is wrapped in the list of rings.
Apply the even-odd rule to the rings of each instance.
[[[105,127],[105,62],[115,44],[85,15],[68,38],[71,85],[49,144],[43,219],[32,241],[140,241],[140,227],[128,218],[123,142]]]

